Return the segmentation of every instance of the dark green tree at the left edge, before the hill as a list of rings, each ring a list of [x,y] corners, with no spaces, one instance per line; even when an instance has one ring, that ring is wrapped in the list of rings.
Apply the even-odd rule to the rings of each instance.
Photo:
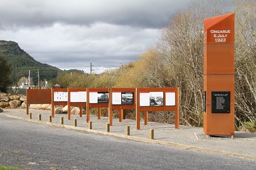
[[[12,84],[11,69],[7,61],[0,57],[0,91],[6,92],[7,86]]]

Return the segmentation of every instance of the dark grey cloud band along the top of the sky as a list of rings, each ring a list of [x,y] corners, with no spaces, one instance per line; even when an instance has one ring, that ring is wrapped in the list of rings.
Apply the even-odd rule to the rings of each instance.
[[[2,0],[0,19],[7,27],[49,26],[56,21],[90,26],[95,22],[160,28],[172,13],[186,4],[179,0],[127,1],[9,1]],[[11,8],[10,8],[11,7]],[[2,11],[2,12],[1,12]]]

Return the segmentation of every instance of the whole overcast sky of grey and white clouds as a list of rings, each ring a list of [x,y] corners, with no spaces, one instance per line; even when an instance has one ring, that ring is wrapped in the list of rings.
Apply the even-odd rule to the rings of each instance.
[[[136,61],[189,0],[0,0],[1,40],[60,69],[95,72]]]

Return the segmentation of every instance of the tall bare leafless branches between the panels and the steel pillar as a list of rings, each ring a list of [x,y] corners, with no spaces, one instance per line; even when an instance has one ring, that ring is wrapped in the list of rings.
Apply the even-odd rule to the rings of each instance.
[[[180,87],[181,119],[189,126],[203,126],[203,19],[224,14],[222,7],[222,1],[193,1],[161,30],[157,49],[172,86]]]

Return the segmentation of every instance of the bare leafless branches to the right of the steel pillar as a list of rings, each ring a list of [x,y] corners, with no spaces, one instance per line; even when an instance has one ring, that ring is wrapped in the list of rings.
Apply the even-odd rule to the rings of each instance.
[[[236,126],[256,122],[256,2],[235,2]],[[244,127],[246,128],[246,127]]]

